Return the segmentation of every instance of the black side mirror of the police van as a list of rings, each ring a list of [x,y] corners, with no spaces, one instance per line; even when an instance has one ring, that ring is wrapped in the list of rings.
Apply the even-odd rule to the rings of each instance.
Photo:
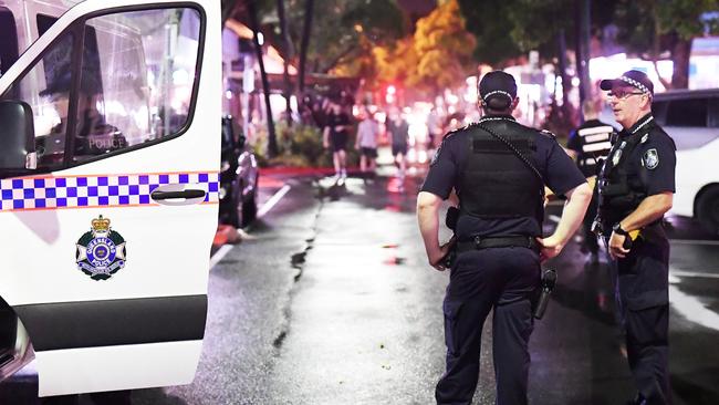
[[[22,101],[0,101],[0,169],[37,168],[32,107]]]

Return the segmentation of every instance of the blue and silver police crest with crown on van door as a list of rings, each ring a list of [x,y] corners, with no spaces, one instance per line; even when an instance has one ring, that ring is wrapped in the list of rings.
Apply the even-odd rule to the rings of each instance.
[[[93,280],[107,280],[125,267],[125,239],[110,227],[101,215],[91,221],[92,228],[77,240],[77,269]]]

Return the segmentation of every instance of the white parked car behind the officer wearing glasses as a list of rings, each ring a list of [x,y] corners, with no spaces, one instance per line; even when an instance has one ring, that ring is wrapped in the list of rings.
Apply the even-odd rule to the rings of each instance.
[[[677,145],[671,212],[719,235],[719,89],[660,93],[652,110]]]

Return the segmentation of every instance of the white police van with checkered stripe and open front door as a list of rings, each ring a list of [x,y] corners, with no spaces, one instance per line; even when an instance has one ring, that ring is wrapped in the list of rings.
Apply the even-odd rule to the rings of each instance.
[[[0,0],[0,378],[189,383],[218,216],[216,0]]]

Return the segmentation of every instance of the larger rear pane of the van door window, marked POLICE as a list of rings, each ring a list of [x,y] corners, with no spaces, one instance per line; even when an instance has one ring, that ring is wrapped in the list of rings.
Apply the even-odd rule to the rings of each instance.
[[[194,9],[87,20],[75,162],[175,135],[185,126],[199,34],[200,17]]]

